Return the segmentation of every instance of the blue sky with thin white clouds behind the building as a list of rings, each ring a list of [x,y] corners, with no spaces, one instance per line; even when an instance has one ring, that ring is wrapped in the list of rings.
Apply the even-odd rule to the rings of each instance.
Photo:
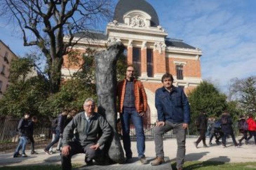
[[[169,38],[202,50],[203,80],[211,80],[225,91],[230,79],[256,75],[256,0],[147,1]],[[6,25],[0,18],[0,39],[16,55],[24,55],[29,48]]]

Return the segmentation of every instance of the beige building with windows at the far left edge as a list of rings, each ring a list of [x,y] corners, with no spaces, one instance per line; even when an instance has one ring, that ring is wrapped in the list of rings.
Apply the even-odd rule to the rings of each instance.
[[[10,64],[17,56],[0,40],[0,98],[9,86]]]

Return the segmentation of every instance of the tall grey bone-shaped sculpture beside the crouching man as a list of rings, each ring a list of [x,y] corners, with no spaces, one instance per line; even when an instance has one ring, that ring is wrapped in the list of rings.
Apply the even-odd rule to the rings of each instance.
[[[108,153],[106,155],[116,163],[123,163],[125,160],[117,132],[116,110],[116,61],[123,51],[124,45],[121,42],[114,42],[109,45],[107,51],[95,54],[98,113],[106,118],[113,132],[111,139],[105,144],[104,150],[105,153]]]

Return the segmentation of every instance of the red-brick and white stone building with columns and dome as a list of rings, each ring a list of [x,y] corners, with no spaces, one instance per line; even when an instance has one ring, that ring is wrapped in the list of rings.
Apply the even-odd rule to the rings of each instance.
[[[74,40],[81,38],[82,32]],[[161,77],[170,73],[174,86],[184,88],[185,92],[194,89],[202,81],[200,57],[202,51],[188,45],[183,40],[168,38],[168,33],[159,24],[153,6],[145,0],[119,0],[113,22],[106,26],[106,32],[93,32],[93,37],[81,38],[75,49],[86,52],[86,47],[104,49],[112,41],[125,45],[128,64],[132,64],[143,82],[148,96],[146,123],[157,120],[154,106],[154,92],[162,87]],[[62,76],[68,78],[78,67],[68,66],[64,56]]]

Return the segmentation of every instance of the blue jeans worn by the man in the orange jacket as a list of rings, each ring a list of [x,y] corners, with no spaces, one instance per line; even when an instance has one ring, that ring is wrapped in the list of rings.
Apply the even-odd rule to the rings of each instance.
[[[131,152],[131,138],[130,138],[130,119],[135,126],[136,138],[137,138],[137,151],[138,157],[144,157],[145,153],[145,135],[143,129],[143,119],[136,111],[135,108],[124,107],[121,114],[121,124],[123,132],[123,144],[125,149],[125,156],[127,158],[132,157]]]

